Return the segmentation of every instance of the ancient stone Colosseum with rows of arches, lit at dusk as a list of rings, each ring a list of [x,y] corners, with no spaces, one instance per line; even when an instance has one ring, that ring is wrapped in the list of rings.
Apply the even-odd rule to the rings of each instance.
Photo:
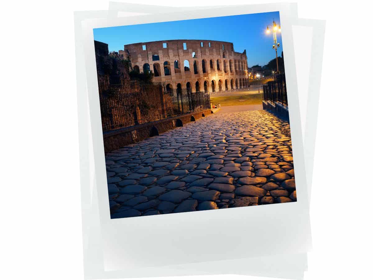
[[[231,91],[249,86],[246,50],[233,43],[206,40],[168,40],[124,46],[119,54],[131,59],[137,71],[153,71],[154,81],[167,90]]]

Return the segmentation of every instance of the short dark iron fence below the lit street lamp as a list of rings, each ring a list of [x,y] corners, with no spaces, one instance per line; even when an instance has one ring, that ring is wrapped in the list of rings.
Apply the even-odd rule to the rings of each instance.
[[[285,74],[276,75],[274,81],[268,81],[266,85],[262,85],[262,90],[264,101],[279,102],[288,106]]]

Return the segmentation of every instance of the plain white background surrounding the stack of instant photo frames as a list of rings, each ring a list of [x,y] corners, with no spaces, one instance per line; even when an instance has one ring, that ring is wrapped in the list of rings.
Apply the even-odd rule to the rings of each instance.
[[[107,7],[106,0],[1,4],[2,279],[83,279],[73,11]],[[327,20],[306,280],[372,277],[370,11],[363,1],[298,3],[300,18]],[[263,279],[167,277],[179,278]]]

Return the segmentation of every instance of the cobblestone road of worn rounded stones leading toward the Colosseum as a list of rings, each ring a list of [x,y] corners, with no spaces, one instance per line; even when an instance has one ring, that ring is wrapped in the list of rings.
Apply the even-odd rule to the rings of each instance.
[[[297,200],[289,124],[208,115],[106,156],[112,218]]]

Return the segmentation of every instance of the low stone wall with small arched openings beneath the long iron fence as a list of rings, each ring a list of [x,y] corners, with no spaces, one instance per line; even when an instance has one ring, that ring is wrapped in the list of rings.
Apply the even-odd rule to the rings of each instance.
[[[147,139],[148,137],[159,135],[167,130],[182,126],[183,124],[200,119],[211,113],[211,109],[206,109],[199,112],[188,113],[173,118],[148,122],[146,124],[135,125],[104,133],[104,151],[107,153],[128,144]],[[136,136],[135,139],[132,136],[134,131]]]

